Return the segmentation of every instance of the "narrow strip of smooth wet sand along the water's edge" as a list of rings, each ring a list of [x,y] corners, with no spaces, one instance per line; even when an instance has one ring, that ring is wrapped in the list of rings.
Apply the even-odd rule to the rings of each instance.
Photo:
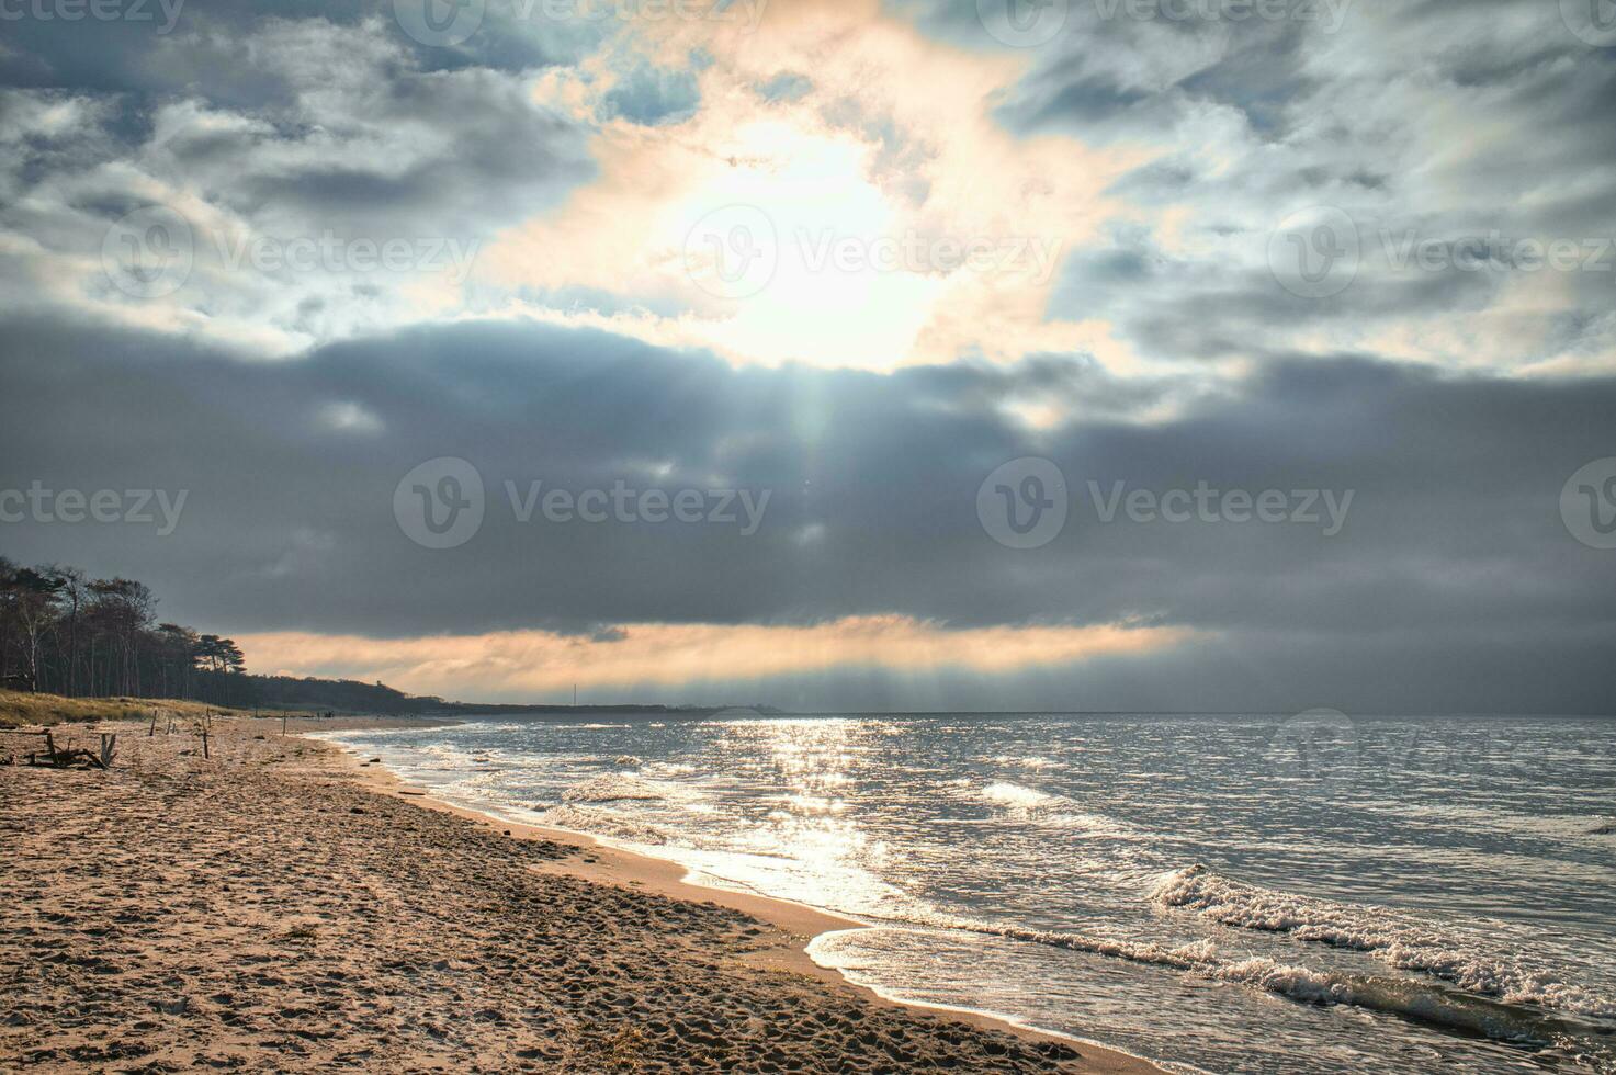
[[[441,721],[433,724],[417,724],[419,727],[451,727],[461,724],[462,721]],[[314,731],[315,734],[307,734]],[[394,795],[407,799],[420,807],[430,810],[443,810],[456,816],[467,818],[477,824],[485,824],[493,829],[504,831],[516,839],[525,841],[548,841],[553,844],[574,845],[587,849],[595,855],[595,860],[588,858],[564,858],[546,862],[535,870],[546,873],[559,873],[566,876],[577,878],[580,881],[588,881],[591,884],[606,884],[612,887],[633,887],[642,892],[654,892],[658,896],[666,896],[669,899],[680,899],[688,902],[708,902],[718,904],[719,907],[727,907],[730,910],[739,910],[742,913],[760,918],[772,926],[784,930],[785,933],[798,938],[800,944],[792,944],[787,951],[771,952],[760,965],[771,965],[779,970],[789,970],[819,981],[834,983],[847,989],[853,989],[869,999],[874,1004],[890,1005],[903,1010],[944,1014],[950,1018],[957,1018],[971,1027],[981,1030],[997,1030],[1000,1033],[1015,1035],[1028,1041],[1055,1041],[1062,1044],[1083,1046],[1084,1049],[1104,1051],[1122,1060],[1117,1067],[1099,1067],[1094,1070],[1117,1070],[1117,1072],[1162,1072],[1154,1060],[1131,1052],[1125,1052],[1115,1046],[1109,1046],[1089,1038],[1081,1038],[1078,1035],[1067,1035],[1055,1030],[1044,1030],[1041,1027],[1031,1027],[1015,1020],[1013,1017],[1002,1015],[997,1012],[986,1012],[971,1007],[957,1007],[952,1004],[929,1004],[926,1001],[907,1001],[902,997],[889,996],[881,989],[873,986],[860,984],[844,975],[840,970],[832,967],[823,967],[808,955],[808,946],[813,944],[823,934],[844,933],[852,930],[871,930],[874,928],[868,921],[858,918],[837,915],[832,912],[821,910],[818,907],[810,907],[808,904],[798,904],[795,900],[781,899],[776,896],[764,896],[761,892],[742,892],[735,889],[698,884],[690,881],[693,873],[687,866],[671,860],[659,858],[654,855],[645,855],[640,852],[616,847],[606,842],[603,837],[593,836],[590,833],[580,833],[575,829],[556,829],[541,824],[532,824],[527,821],[516,821],[503,818],[491,810],[478,810],[475,807],[464,807],[461,803],[449,802],[446,799],[436,797],[430,789],[417,787],[406,782],[398,773],[386,768],[385,763],[364,761],[360,755],[362,750],[344,744],[325,739],[320,731],[344,732],[344,731],[365,731],[365,727],[333,727],[333,729],[304,729],[299,732],[304,739],[314,739],[315,742],[326,742],[338,748],[338,757],[347,765],[352,773],[359,778],[360,784],[375,790],[377,794]],[[1138,1065],[1138,1067],[1134,1067]]]

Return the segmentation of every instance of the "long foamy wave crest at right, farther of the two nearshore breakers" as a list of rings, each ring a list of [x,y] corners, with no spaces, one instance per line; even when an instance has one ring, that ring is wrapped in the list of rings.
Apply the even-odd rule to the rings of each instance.
[[[1474,939],[1383,907],[1277,892],[1223,878],[1202,865],[1167,875],[1152,899],[1162,907],[1193,910],[1227,926],[1367,952],[1398,970],[1422,972],[1506,1004],[1542,1004],[1577,1015],[1616,1017],[1611,997],[1526,967],[1516,957],[1480,952]]]

